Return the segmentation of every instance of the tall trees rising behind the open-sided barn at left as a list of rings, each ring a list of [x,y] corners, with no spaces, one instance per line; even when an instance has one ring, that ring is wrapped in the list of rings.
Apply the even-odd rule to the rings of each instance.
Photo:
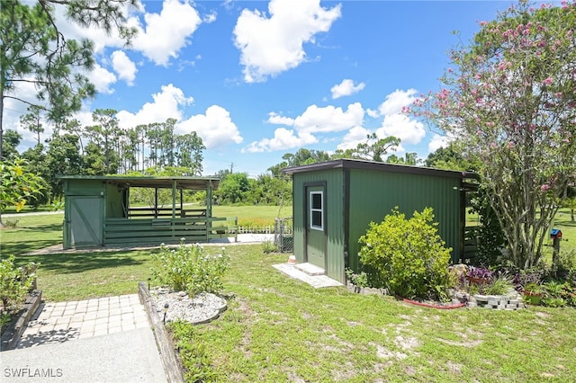
[[[92,117],[95,124],[89,126],[74,119],[62,120],[42,141],[40,135],[46,129],[43,110],[29,107],[20,124],[35,134],[37,142],[23,153],[16,149],[22,135],[15,130],[4,132],[3,160],[21,157],[45,180],[44,196],[35,203],[61,197],[58,175],[202,174],[202,138],[196,132],[177,134],[177,120],[124,128],[113,109],[98,109]]]

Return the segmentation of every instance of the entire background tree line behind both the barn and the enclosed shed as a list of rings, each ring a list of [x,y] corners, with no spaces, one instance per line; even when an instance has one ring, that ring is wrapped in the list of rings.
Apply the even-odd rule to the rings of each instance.
[[[177,120],[168,119],[161,123],[149,123],[133,128],[119,126],[116,111],[99,109],[94,111],[95,125],[82,126],[78,120],[64,120],[55,124],[51,136],[42,141],[46,120],[41,108],[30,107],[22,116],[23,129],[35,135],[36,145],[23,153],[17,148],[22,135],[15,130],[6,130],[3,137],[4,160],[22,158],[26,167],[39,174],[44,180],[40,198],[31,204],[40,206],[53,200],[61,200],[63,191],[58,182],[59,175],[184,175],[202,174],[202,151],[205,147],[195,132],[175,133]],[[256,178],[247,173],[232,173],[220,170],[220,187],[214,192],[214,202],[219,204],[266,204],[292,203],[292,180],[282,174],[289,166],[310,165],[339,158],[356,158],[376,162],[403,165],[428,165],[416,156],[390,155],[401,143],[400,138],[377,138],[368,135],[365,142],[355,148],[323,150],[301,148],[295,153],[286,153],[283,161],[272,165],[265,174]],[[190,200],[202,202],[205,195],[193,193]]]

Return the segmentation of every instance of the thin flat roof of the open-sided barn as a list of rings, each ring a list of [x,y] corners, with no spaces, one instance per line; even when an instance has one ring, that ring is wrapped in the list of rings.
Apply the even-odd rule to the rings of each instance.
[[[170,176],[121,176],[121,175],[62,175],[60,180],[100,180],[103,183],[137,187],[137,188],[166,188],[171,189],[176,183],[176,189],[204,190],[211,184],[216,190],[220,184],[217,177],[170,177]]]

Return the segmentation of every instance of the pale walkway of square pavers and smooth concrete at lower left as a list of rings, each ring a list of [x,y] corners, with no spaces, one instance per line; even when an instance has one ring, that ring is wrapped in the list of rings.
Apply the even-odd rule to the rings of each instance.
[[[138,294],[44,304],[0,359],[3,382],[166,382]]]

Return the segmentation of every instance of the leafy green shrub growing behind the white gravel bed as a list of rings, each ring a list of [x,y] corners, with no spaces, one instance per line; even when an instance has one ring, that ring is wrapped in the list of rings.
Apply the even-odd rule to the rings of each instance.
[[[220,254],[206,254],[201,245],[185,245],[184,238],[177,248],[162,245],[160,253],[153,256],[157,265],[152,275],[171,289],[186,291],[190,296],[201,292],[218,293],[222,275],[229,268],[225,248]]]

